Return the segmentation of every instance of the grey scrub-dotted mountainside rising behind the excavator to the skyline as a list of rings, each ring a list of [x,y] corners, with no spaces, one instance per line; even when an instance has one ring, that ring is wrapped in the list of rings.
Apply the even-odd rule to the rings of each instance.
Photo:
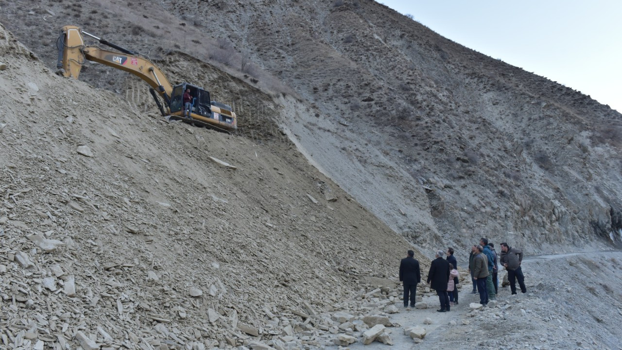
[[[294,91],[277,98],[283,131],[421,247],[468,245],[482,235],[534,250],[620,243],[621,115],[572,88],[373,1],[83,6],[117,14],[128,28],[142,25],[132,40],[101,29],[121,43],[176,45],[233,70],[248,59],[249,80],[271,73],[287,85],[274,90]],[[154,16],[162,8],[165,16]],[[245,105],[243,95],[232,100]]]

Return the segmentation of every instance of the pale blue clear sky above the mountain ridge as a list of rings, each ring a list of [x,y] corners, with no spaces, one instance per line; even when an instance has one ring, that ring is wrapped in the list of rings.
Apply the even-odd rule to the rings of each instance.
[[[621,0],[379,0],[443,37],[622,113]]]

